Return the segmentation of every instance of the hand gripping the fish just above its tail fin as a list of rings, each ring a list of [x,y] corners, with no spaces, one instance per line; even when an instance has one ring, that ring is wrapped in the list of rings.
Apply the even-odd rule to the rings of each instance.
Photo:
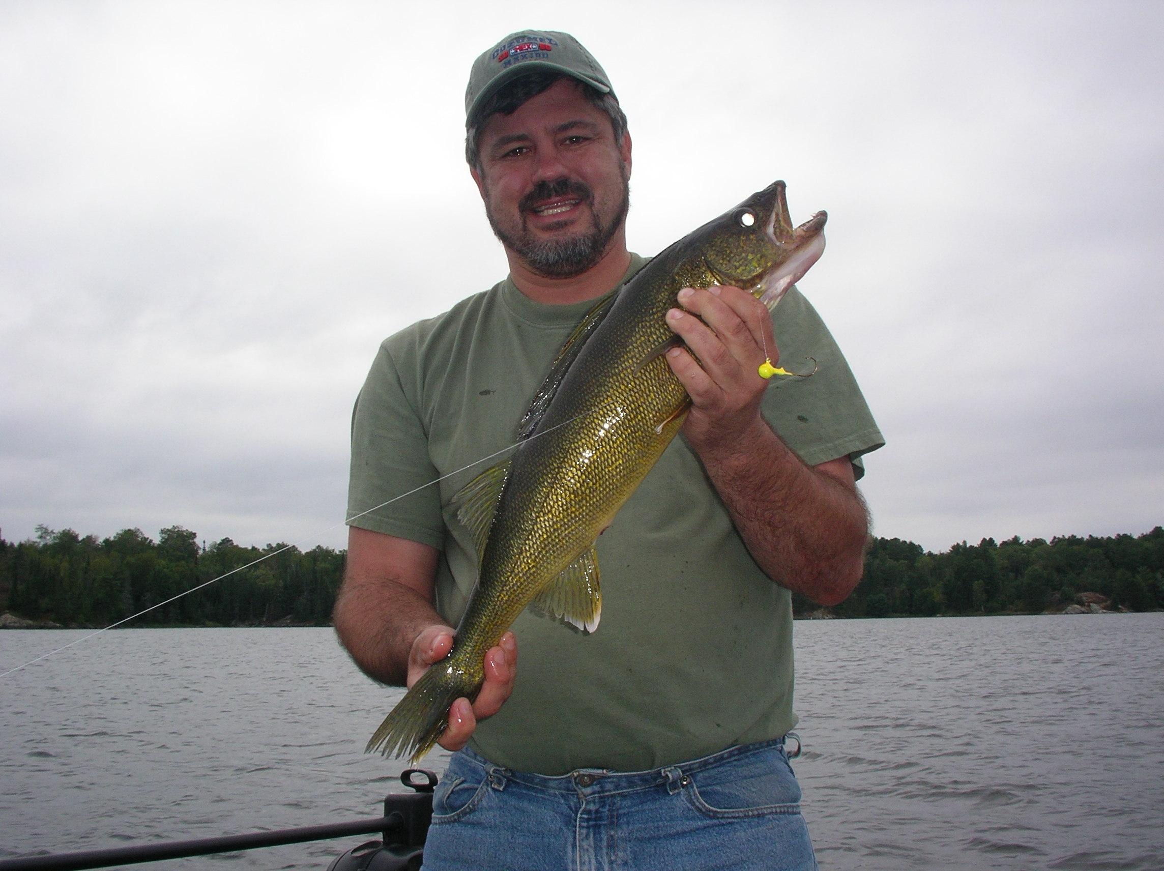
[[[411,688],[433,663],[447,657],[452,649],[450,626],[432,625],[421,630],[409,651],[409,687]],[[517,639],[512,632],[506,632],[496,647],[490,647],[485,652],[485,682],[481,685],[477,700],[471,704],[464,697],[453,702],[448,709],[448,729],[436,743],[449,751],[460,750],[468,744],[477,723],[501,710],[502,704],[510,697],[516,675]]]

